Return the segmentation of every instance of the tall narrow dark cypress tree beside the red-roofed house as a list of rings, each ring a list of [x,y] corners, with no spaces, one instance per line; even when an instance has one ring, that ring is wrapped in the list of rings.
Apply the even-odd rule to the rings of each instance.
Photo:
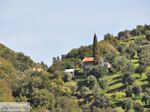
[[[94,40],[93,40],[93,57],[94,57],[94,64],[97,65],[100,61],[100,57],[99,57],[99,47],[97,43],[96,34],[94,34]]]

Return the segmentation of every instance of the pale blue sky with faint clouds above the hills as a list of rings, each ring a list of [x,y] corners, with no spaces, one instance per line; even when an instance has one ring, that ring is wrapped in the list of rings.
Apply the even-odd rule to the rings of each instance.
[[[104,34],[150,24],[150,0],[0,0],[0,43],[50,65]]]

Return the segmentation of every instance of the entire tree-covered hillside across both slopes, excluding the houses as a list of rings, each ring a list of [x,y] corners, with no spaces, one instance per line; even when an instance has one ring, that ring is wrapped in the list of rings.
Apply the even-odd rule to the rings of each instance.
[[[49,68],[0,44],[0,101],[27,101],[33,112],[149,112],[149,48],[150,25],[107,33]],[[83,59],[93,57],[86,71]]]

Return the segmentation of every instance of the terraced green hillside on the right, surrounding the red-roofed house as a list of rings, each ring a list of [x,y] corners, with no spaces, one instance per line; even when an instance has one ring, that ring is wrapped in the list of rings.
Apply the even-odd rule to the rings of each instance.
[[[99,79],[93,76],[103,73],[93,73],[89,76],[83,75],[82,59],[92,56],[92,45],[72,49],[68,54],[62,55],[61,60],[58,57],[54,58],[54,63],[49,68],[49,71],[75,69],[76,77],[66,83],[68,85],[77,83],[78,89],[74,95],[78,97],[79,105],[83,111],[91,111],[90,109],[93,108],[91,106],[96,102],[93,98],[98,97],[94,95],[95,92],[93,93],[95,89],[99,91],[98,94],[104,95],[106,98],[104,98],[105,100],[99,98],[99,100],[102,100],[99,103],[103,104],[95,106],[94,112],[99,112],[99,108],[106,107],[111,107],[118,112],[124,111],[124,109],[126,111],[130,110],[128,108],[132,108],[130,111],[139,112],[138,109],[146,111],[150,108],[149,35],[149,25],[139,25],[133,30],[121,31],[118,36],[113,36],[110,33],[106,34],[104,40],[98,42],[99,52],[100,56],[110,62],[113,68],[111,72],[106,73]],[[91,87],[92,83],[95,83],[93,87]],[[95,87],[97,83],[100,90],[97,90],[97,86]],[[109,103],[106,102],[106,99],[108,99]],[[104,104],[107,104],[107,106]],[[113,109],[106,111],[112,111]]]

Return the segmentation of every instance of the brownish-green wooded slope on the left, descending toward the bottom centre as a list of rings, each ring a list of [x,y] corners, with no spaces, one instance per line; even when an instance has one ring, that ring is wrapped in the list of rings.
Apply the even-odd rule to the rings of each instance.
[[[30,102],[32,112],[80,112],[76,98],[64,95],[71,90],[58,74],[0,44],[0,102]]]

